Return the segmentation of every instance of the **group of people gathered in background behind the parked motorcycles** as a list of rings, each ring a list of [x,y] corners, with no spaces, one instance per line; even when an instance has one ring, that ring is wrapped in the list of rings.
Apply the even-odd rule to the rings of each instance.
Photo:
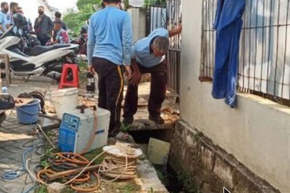
[[[26,25],[22,29],[23,33],[31,33],[37,36],[42,46],[52,45],[55,43],[69,44],[70,38],[67,33],[66,24],[61,20],[62,14],[55,12],[55,20],[45,14],[43,6],[38,7],[39,16],[36,18],[34,27],[31,20],[24,16],[23,10],[19,7],[18,3],[11,2],[10,5],[7,2],[1,3],[0,12],[0,36],[3,35],[11,26],[14,25],[13,16],[15,14],[21,14]]]

